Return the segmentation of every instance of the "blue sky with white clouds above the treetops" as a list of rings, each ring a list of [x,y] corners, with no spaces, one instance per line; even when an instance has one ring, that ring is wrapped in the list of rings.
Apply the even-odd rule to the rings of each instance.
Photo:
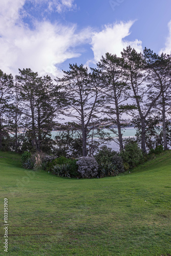
[[[0,69],[56,77],[69,63],[93,67],[128,45],[170,53],[170,10],[170,0],[1,1]]]

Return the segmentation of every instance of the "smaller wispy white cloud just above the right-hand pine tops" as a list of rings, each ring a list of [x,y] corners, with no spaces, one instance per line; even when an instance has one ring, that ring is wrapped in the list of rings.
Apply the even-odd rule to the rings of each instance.
[[[100,32],[95,32],[91,42],[95,62],[99,61],[101,56],[105,55],[106,52],[120,56],[120,52],[123,48],[129,45],[138,52],[142,51],[142,42],[140,40],[124,40],[126,36],[130,35],[130,28],[133,24],[133,21],[115,23],[113,25],[104,26],[104,29]]]

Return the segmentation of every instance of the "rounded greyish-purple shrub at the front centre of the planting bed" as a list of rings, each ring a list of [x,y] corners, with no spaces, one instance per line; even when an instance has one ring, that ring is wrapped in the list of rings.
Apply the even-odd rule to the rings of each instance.
[[[93,178],[98,174],[98,163],[92,157],[78,158],[77,165],[82,178]]]

